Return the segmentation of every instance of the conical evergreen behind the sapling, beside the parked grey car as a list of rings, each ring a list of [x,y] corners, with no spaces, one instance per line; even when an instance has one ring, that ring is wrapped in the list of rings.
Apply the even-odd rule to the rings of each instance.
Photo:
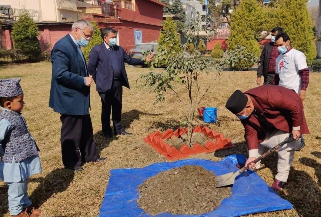
[[[170,17],[167,17],[163,22],[163,30],[160,32],[160,37],[158,39],[158,50],[160,51],[163,48],[166,48],[169,53],[171,51],[182,51],[181,40],[176,32],[176,23]],[[158,66],[166,67],[165,58],[159,61]]]

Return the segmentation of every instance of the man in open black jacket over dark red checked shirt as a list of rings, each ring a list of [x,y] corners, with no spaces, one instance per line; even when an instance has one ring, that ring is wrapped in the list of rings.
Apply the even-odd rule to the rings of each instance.
[[[266,44],[262,50],[259,61],[259,68],[257,69],[257,85],[261,84],[261,77],[264,77],[263,84],[272,84],[275,75],[275,60],[280,55],[278,47],[275,45],[275,37],[277,34],[283,32],[281,27],[275,27],[271,30],[271,42]]]

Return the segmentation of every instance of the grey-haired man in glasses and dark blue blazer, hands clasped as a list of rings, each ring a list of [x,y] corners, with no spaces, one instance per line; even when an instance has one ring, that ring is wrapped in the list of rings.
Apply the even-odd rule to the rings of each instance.
[[[71,33],[57,41],[51,51],[52,78],[49,107],[61,114],[60,142],[66,168],[81,171],[82,163],[103,161],[93,141],[89,115],[92,76],[81,47],[88,45],[94,28],[90,22],[78,20]]]

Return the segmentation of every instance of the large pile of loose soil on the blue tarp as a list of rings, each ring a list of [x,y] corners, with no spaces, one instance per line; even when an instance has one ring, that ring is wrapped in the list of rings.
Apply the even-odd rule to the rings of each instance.
[[[215,175],[201,166],[183,166],[160,172],[138,187],[138,204],[153,215],[203,214],[229,197],[231,187],[216,188]]]

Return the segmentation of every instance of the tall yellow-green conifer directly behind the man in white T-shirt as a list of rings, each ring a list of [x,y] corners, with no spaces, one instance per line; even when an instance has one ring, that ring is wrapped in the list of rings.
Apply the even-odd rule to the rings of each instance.
[[[313,23],[307,7],[307,0],[281,0],[275,11],[277,26],[288,33],[293,48],[307,57],[308,65],[317,56],[313,41]]]

